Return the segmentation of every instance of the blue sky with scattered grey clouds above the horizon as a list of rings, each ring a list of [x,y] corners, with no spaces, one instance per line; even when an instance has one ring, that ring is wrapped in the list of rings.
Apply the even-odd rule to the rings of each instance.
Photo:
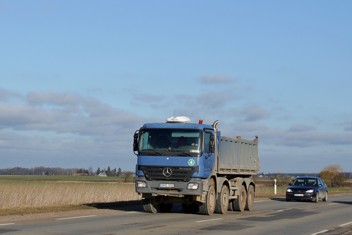
[[[219,119],[263,172],[352,170],[351,1],[0,1],[0,168],[133,170],[144,123]]]

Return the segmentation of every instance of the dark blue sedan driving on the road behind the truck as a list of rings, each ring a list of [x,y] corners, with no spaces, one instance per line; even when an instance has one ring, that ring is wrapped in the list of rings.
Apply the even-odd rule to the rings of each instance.
[[[323,199],[323,202],[326,202],[328,199],[328,188],[319,177],[298,177],[289,185],[286,189],[287,202],[290,202],[291,199],[314,202]]]

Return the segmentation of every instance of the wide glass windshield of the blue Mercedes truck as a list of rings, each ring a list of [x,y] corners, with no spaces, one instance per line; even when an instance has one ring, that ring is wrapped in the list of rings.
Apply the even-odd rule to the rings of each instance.
[[[145,129],[139,139],[139,151],[200,153],[202,130]]]

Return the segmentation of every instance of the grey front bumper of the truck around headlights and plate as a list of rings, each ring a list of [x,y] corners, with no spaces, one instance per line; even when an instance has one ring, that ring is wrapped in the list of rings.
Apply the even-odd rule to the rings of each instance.
[[[137,187],[137,181],[143,181],[146,187]],[[198,183],[198,189],[187,189],[189,183]],[[160,184],[173,184],[174,187],[165,188],[160,187]],[[151,196],[175,196],[183,197],[183,195],[202,195],[203,194],[203,180],[200,178],[191,178],[188,182],[174,182],[174,181],[147,181],[144,176],[139,176],[136,179],[137,193],[151,193]]]

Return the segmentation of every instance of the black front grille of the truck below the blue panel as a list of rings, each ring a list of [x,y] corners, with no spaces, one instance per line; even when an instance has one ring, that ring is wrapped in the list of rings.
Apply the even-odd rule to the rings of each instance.
[[[171,175],[166,177],[164,169],[171,169]],[[175,166],[138,166],[138,170],[142,171],[145,178],[151,180],[188,180],[191,178],[194,172],[198,171],[198,167],[175,167]],[[166,170],[165,170],[166,171]],[[166,172],[166,175],[168,172]]]

